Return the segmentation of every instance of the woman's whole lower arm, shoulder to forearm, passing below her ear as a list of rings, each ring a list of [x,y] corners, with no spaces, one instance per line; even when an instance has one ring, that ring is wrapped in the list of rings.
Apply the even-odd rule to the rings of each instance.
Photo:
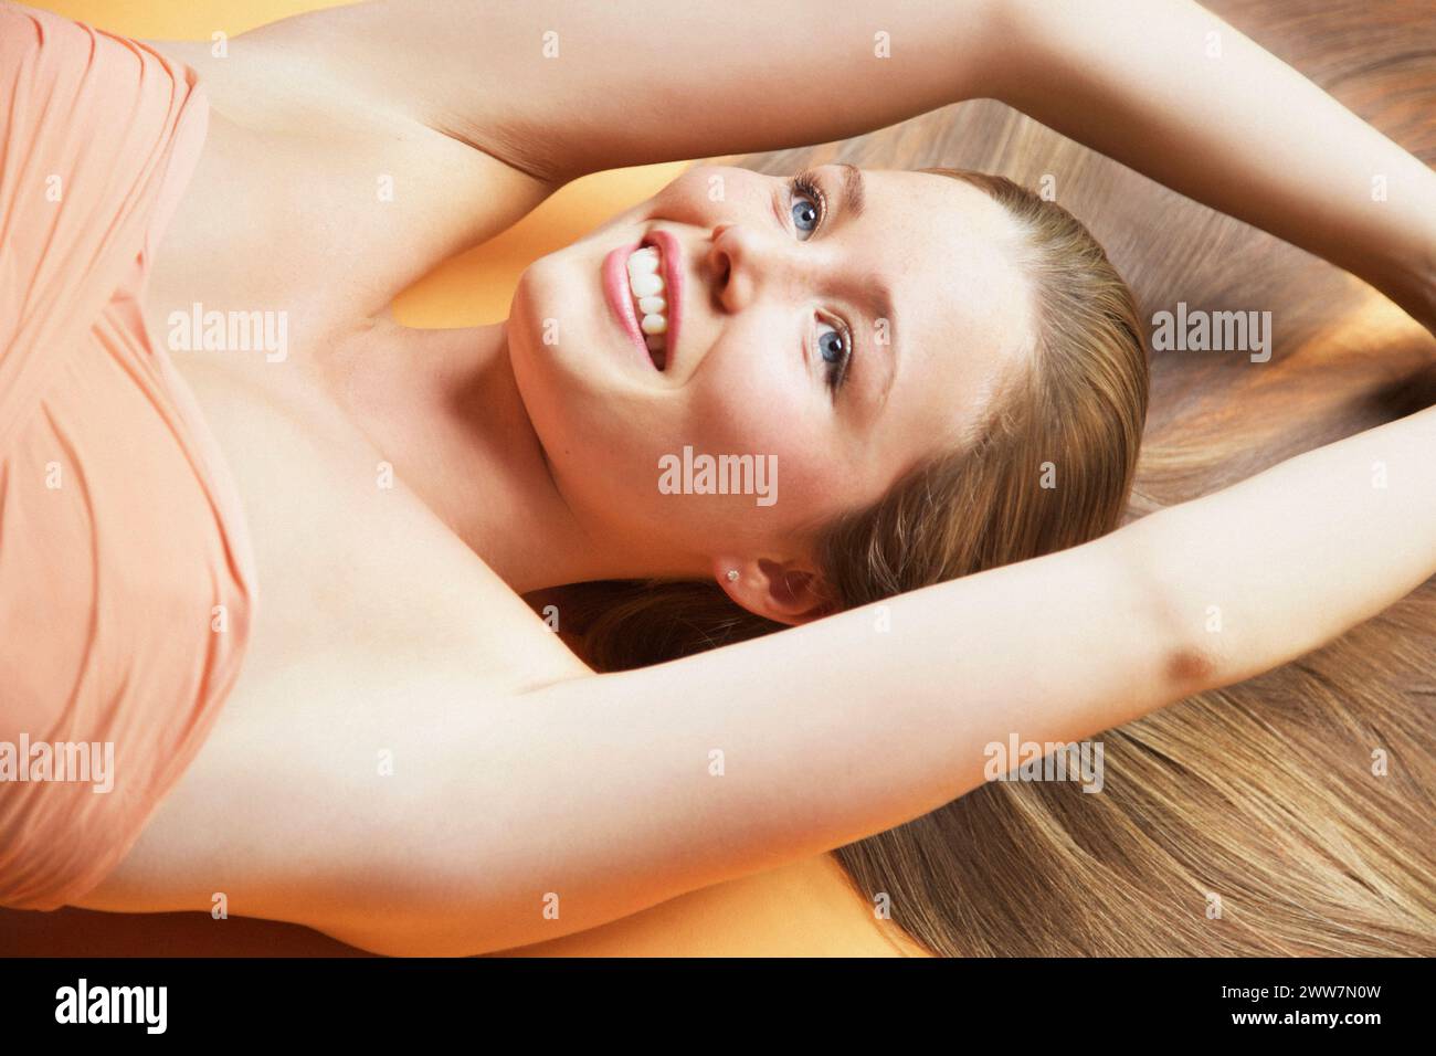
[[[1414,589],[1433,455],[1436,408],[1084,546],[536,688],[471,733],[457,714],[432,799],[353,866],[416,908],[306,922],[385,953],[508,948],[900,825],[981,784],[989,744],[1091,737]]]

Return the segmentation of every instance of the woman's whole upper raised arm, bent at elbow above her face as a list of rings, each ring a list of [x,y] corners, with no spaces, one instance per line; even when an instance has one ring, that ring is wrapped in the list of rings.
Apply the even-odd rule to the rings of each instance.
[[[1193,0],[376,0],[250,37],[551,182],[997,98],[1436,330],[1436,174]]]

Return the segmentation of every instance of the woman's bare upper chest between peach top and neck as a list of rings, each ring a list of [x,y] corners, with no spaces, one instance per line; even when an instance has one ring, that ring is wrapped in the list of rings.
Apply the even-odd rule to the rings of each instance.
[[[289,707],[296,670],[322,670],[310,682],[343,701],[343,680],[381,659],[395,678],[447,665],[490,690],[572,671],[573,654],[405,487],[325,381],[366,316],[541,194],[428,129],[356,126],[339,109],[313,121],[325,99],[303,85],[231,85],[211,65],[204,149],[141,307],[246,511],[258,605],[227,710]]]

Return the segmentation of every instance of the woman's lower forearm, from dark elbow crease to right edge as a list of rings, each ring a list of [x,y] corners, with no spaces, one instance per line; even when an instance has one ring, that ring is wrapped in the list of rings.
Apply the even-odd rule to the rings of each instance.
[[[1436,575],[1436,407],[1123,532],[1203,655],[1198,688],[1287,664]]]

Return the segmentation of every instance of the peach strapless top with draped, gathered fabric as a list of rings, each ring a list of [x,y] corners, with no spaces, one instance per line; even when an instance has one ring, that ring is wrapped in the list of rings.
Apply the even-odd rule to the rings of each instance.
[[[0,4],[0,905],[96,886],[240,671],[238,494],[139,312],[207,121],[192,69]]]

